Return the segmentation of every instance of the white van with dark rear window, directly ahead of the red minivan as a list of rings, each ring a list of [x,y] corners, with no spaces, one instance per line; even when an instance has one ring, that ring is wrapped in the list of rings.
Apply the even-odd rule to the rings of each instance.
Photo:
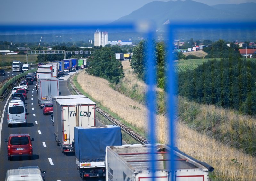
[[[8,127],[12,124],[27,124],[27,110],[21,99],[11,100],[8,105],[8,110],[5,110],[5,112],[8,114]]]

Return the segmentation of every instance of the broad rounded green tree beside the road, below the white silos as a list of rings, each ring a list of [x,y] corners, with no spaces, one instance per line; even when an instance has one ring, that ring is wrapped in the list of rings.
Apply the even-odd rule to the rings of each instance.
[[[88,60],[86,73],[107,79],[110,83],[119,83],[124,77],[123,65],[116,59],[109,47],[101,47]]]

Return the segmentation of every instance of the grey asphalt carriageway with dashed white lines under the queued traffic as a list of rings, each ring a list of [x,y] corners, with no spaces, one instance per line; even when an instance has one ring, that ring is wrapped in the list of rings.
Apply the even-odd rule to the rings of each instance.
[[[16,72],[19,73],[19,72]],[[67,88],[67,78],[71,73],[65,73],[59,79],[61,96],[70,95]],[[8,75],[8,74],[7,74]],[[69,181],[82,180],[77,171],[75,154],[69,153],[64,155],[61,149],[57,146],[54,138],[54,126],[52,125],[50,116],[44,116],[42,109],[38,106],[36,82],[34,85],[29,85],[28,99],[26,100],[27,108],[27,127],[13,125],[7,126],[7,115],[4,112],[10,96],[4,102],[0,103],[1,107],[1,123],[0,123],[0,180],[4,180],[8,169],[16,169],[19,166],[39,166],[41,170],[46,171],[44,176],[46,180],[51,181]],[[97,122],[96,125],[100,123]],[[7,160],[7,143],[9,134],[29,133],[31,138],[34,138],[33,143],[33,158],[15,158],[12,161]],[[89,180],[99,180],[98,178]]]

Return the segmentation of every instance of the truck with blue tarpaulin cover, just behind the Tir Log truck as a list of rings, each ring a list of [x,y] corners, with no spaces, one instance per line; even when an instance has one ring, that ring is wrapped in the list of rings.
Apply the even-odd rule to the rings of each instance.
[[[121,128],[116,125],[74,127],[75,158],[80,177],[105,177],[106,147],[121,146]]]

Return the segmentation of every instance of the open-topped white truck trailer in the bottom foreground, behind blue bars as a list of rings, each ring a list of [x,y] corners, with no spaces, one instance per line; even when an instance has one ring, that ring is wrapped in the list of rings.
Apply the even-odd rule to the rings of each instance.
[[[151,163],[152,150],[155,156],[154,170]],[[174,158],[173,172],[169,169],[170,158]],[[156,181],[208,181],[209,171],[214,170],[207,163],[165,144],[108,146],[105,162],[107,181],[151,181],[152,178]]]

